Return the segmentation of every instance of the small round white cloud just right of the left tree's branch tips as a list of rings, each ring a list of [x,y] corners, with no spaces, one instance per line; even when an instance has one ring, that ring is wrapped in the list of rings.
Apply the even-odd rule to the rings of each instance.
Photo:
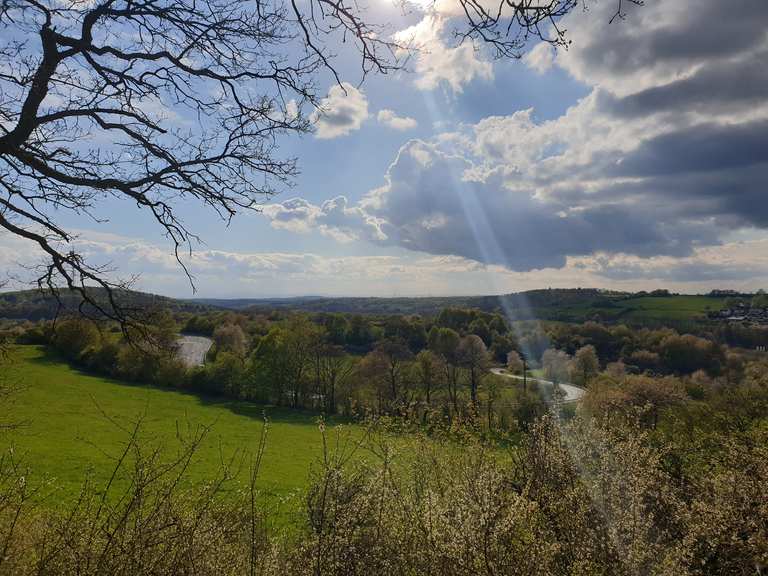
[[[320,108],[312,113],[310,120],[315,125],[315,137],[338,138],[359,130],[368,118],[368,99],[365,94],[349,84],[336,84],[328,96],[320,102]]]

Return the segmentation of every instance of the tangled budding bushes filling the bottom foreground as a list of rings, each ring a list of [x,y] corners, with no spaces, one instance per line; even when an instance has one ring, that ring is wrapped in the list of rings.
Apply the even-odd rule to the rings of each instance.
[[[326,438],[304,522],[287,533],[265,522],[264,437],[250,464],[226,460],[189,485],[204,432],[169,458],[141,446],[137,426],[113,480],[59,512],[36,507],[42,492],[5,458],[0,574],[746,575],[768,562],[760,426],[681,466],[640,423],[545,417],[509,452],[466,429],[404,437],[374,424],[363,440]]]

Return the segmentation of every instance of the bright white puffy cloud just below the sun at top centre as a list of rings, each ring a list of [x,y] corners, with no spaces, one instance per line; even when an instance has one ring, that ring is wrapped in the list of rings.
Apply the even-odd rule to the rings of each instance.
[[[461,93],[475,78],[491,80],[493,66],[482,58],[472,41],[458,46],[446,44],[446,23],[443,16],[430,13],[417,24],[395,34],[398,42],[417,50],[416,87],[434,90],[445,86],[454,93]]]

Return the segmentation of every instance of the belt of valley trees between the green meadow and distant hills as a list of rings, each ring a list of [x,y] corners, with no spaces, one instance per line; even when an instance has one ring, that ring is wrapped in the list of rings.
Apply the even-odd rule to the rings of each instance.
[[[531,371],[589,387],[600,374],[703,372],[734,383],[744,370],[743,355],[712,335],[510,323],[461,308],[434,317],[159,310],[142,333],[80,317],[18,331],[22,342],[51,345],[90,370],[130,381],[349,417],[474,419],[488,429],[525,429],[546,412],[552,390],[528,377]],[[213,339],[204,366],[179,360],[179,331]],[[492,374],[494,365],[526,378]]]

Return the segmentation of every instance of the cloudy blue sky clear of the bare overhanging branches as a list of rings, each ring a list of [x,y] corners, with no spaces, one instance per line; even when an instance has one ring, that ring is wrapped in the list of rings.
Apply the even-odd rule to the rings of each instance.
[[[280,142],[294,185],[218,220],[185,263],[150,217],[114,198],[62,214],[92,262],[176,297],[428,296],[546,287],[768,287],[768,3],[589,3],[496,60],[451,36],[449,0],[369,0],[412,40],[407,71],[360,84],[353,55],[320,77],[313,133]],[[0,269],[36,257],[0,234]],[[14,285],[14,287],[17,287]]]

